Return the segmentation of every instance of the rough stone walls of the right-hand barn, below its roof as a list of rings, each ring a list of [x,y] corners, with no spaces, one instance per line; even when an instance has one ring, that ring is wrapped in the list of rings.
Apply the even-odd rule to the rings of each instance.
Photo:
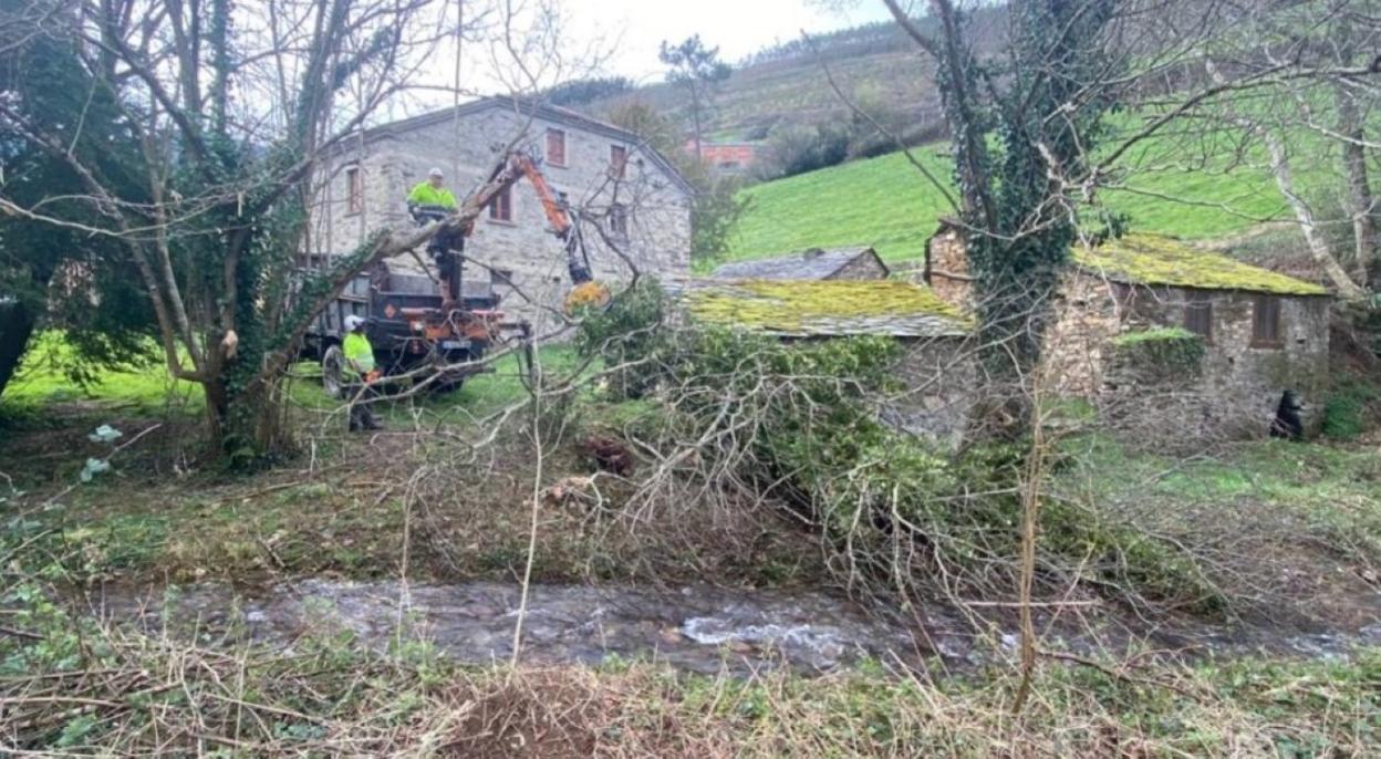
[[[928,246],[927,282],[945,301],[972,310],[963,237],[942,229]],[[1229,290],[1128,286],[1072,272],[1061,287],[1041,363],[1043,386],[1094,400],[1105,422],[1148,442],[1261,437],[1286,389],[1305,402],[1305,426],[1322,421],[1329,366],[1329,299],[1276,295],[1280,342],[1253,342],[1261,295]],[[1119,364],[1116,335],[1185,326],[1190,299],[1210,304],[1211,337],[1201,366],[1160,375]]]

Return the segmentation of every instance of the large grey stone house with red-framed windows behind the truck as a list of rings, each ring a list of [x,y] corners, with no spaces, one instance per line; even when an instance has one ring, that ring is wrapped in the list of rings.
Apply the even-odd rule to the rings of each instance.
[[[311,250],[342,254],[373,230],[412,225],[405,199],[432,167],[463,201],[510,145],[537,156],[558,197],[594,219],[583,222],[583,232],[597,279],[627,277],[624,255],[661,277],[688,272],[693,190],[666,157],[627,130],[519,98],[481,98],[344,141],[318,182]],[[559,309],[570,288],[566,261],[528,181],[490,204],[465,255],[474,261],[464,268],[465,282],[492,282],[505,315],[539,330],[557,322],[548,309]],[[420,258],[400,255],[388,269],[421,275]]]

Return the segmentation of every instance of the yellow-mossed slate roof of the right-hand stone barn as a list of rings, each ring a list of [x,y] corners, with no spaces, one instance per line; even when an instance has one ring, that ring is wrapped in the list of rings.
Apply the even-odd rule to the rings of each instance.
[[[1329,294],[1317,284],[1157,235],[1126,235],[1092,250],[1076,246],[1073,255],[1074,262],[1085,270],[1137,284],[1247,290],[1280,295]]]

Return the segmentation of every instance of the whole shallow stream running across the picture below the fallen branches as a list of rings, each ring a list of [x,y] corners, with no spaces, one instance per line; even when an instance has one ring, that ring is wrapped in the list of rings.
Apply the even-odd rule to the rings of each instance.
[[[305,636],[349,633],[374,650],[427,640],[458,661],[486,664],[512,656],[519,589],[501,582],[405,586],[305,578],[253,593],[222,584],[108,586],[90,603],[110,621],[166,628],[209,644],[249,639],[291,650]],[[865,657],[916,667],[938,656],[952,665],[976,665],[1011,654],[1018,640],[1015,628],[992,622],[992,632],[979,642],[969,625],[946,610],[927,611],[918,620],[920,625],[881,620],[823,592],[533,585],[522,657],[541,664],[645,658],[706,673],[779,667],[822,672]],[[1381,617],[1352,631],[1287,633],[1182,624],[1150,635],[1101,620],[1077,632],[1052,628],[1043,640],[1043,646],[1074,653],[1152,646],[1207,656],[1271,651],[1319,658],[1346,656],[1358,644],[1381,644]]]

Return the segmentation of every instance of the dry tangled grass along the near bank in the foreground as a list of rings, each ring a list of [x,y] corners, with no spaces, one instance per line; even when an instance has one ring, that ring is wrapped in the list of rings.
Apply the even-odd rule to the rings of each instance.
[[[939,679],[878,664],[819,678],[456,668],[424,644],[383,657],[305,639],[269,654],[40,617],[25,624],[44,639],[0,642],[12,756],[1364,756],[1381,740],[1375,651],[1197,668],[1047,660],[1012,716],[1005,665]]]

